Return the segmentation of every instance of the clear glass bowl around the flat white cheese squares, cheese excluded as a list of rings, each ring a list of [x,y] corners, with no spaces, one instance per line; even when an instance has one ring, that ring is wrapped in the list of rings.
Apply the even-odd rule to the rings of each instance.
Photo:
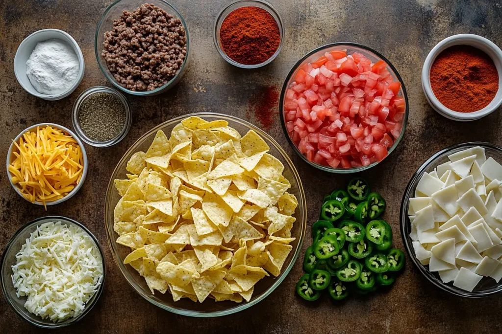
[[[502,148],[485,142],[470,142],[458,144],[439,151],[438,153],[430,157],[426,162],[424,162],[412,176],[410,182],[408,182],[408,186],[406,187],[405,193],[403,195],[403,200],[401,202],[401,212],[399,215],[401,224],[401,237],[403,238],[403,244],[405,246],[406,252],[408,253],[408,256],[410,257],[412,262],[418,268],[418,270],[422,273],[422,275],[424,275],[427,280],[429,280],[432,284],[436,285],[442,290],[448,291],[460,297],[468,298],[487,297],[491,294],[500,292],[502,291],[502,281],[496,283],[495,280],[490,277],[483,277],[472,292],[459,289],[453,286],[452,283],[443,283],[437,272],[430,272],[428,265],[424,266],[415,256],[415,250],[413,249],[412,244],[413,240],[410,238],[411,222],[408,218],[408,208],[410,204],[410,198],[415,197],[415,189],[417,188],[417,184],[424,173],[432,172],[438,165],[449,161],[448,155],[476,146],[480,146],[485,149],[486,157],[492,157],[499,162],[502,161]]]

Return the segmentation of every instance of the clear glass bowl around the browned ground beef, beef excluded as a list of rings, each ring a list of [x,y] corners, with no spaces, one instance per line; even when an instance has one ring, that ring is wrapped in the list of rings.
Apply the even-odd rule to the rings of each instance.
[[[108,70],[108,66],[106,65],[106,61],[104,58],[101,56],[101,52],[103,50],[103,42],[104,42],[104,33],[107,31],[112,30],[113,28],[113,21],[118,20],[120,18],[120,15],[122,14],[123,11],[135,11],[138,7],[141,5],[144,5],[145,3],[148,4],[154,4],[155,6],[162,8],[164,11],[166,11],[168,14],[171,14],[175,18],[180,19],[181,24],[185,28],[185,34],[187,37],[187,54],[185,61],[183,62],[183,65],[181,66],[181,69],[178,71],[178,73],[174,76],[173,79],[171,79],[167,84],[165,84],[162,87],[159,87],[157,89],[154,89],[153,91],[143,91],[143,92],[135,92],[135,91],[130,91],[127,88],[124,88],[120,86],[116,81],[115,78],[113,78],[113,75],[110,73]],[[169,3],[165,2],[164,0],[149,0],[148,2],[145,0],[116,0],[113,4],[108,6],[108,8],[104,11],[103,16],[101,17],[101,20],[99,20],[99,23],[97,25],[96,29],[96,35],[94,37],[94,53],[96,55],[96,60],[99,65],[99,68],[101,69],[101,72],[103,72],[105,78],[116,88],[121,90],[122,92],[131,94],[131,95],[136,95],[136,96],[150,96],[150,95],[157,95],[160,93],[163,93],[169,89],[171,89],[173,86],[175,86],[183,77],[185,74],[188,64],[190,63],[190,35],[188,33],[188,26],[181,16],[181,14],[174,8],[172,5]]]

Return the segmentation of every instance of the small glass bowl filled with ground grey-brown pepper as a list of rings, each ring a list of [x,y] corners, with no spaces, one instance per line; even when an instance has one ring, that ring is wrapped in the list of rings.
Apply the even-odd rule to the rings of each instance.
[[[91,87],[75,101],[73,128],[80,139],[95,147],[115,145],[131,128],[132,112],[126,98],[102,86]]]

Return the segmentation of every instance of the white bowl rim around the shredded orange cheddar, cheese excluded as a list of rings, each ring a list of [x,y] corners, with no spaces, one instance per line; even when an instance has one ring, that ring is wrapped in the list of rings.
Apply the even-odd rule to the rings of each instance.
[[[46,125],[52,126],[53,128],[58,128],[60,130],[63,130],[64,132],[68,133],[73,138],[75,138],[75,140],[78,143],[78,146],[80,146],[80,149],[82,150],[82,155],[84,157],[84,170],[82,171],[82,178],[80,179],[80,182],[75,186],[75,188],[73,188],[73,190],[70,191],[68,193],[68,195],[64,196],[63,198],[60,198],[60,199],[52,201],[52,202],[46,202],[45,203],[46,205],[56,205],[56,204],[59,204],[59,203],[62,203],[64,201],[66,201],[67,199],[70,199],[71,197],[73,197],[73,195],[75,195],[77,193],[77,191],[80,188],[82,188],[82,185],[84,184],[84,181],[85,181],[85,176],[87,175],[87,169],[88,169],[87,153],[85,152],[84,144],[82,143],[82,141],[80,140],[80,138],[78,138],[70,129],[67,129],[64,126],[61,126],[61,125],[58,125],[58,124],[54,124],[54,123],[39,123],[39,124],[32,125],[32,126],[26,128],[26,129],[24,129],[23,131],[21,131],[21,133],[14,139],[14,142],[19,142],[19,138],[21,138],[21,136],[25,132],[28,132],[28,131],[37,131],[37,127],[38,126],[43,127],[43,126],[46,126]],[[12,183],[11,173],[9,172],[9,165],[11,164],[11,162],[14,159],[14,154],[12,154],[12,152],[13,152],[14,148],[16,147],[14,145],[14,142],[9,147],[9,152],[7,152],[7,165],[6,165],[7,166],[7,177],[9,178],[9,182],[11,182],[12,187],[14,188],[14,190],[16,190],[16,192],[19,194],[19,196],[23,197],[25,200],[28,201],[28,199],[25,196],[23,196],[23,194],[19,190],[18,186],[16,186],[14,183]],[[31,201],[29,201],[29,202],[31,203]],[[38,201],[35,202],[34,204],[44,205],[44,203],[38,202]]]

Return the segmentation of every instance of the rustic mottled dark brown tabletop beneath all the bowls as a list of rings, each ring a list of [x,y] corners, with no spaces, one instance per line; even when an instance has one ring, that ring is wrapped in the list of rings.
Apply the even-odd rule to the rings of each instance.
[[[0,161],[5,161],[11,139],[29,125],[53,122],[71,128],[72,104],[90,86],[107,85],[94,57],[94,32],[110,1],[25,0],[0,1]],[[286,26],[286,43],[269,66],[244,71],[226,64],[212,43],[212,24],[227,1],[173,0],[188,22],[193,59],[190,70],[171,91],[151,98],[128,99],[134,110],[128,136],[112,148],[86,146],[89,173],[80,192],[47,212],[20,198],[0,169],[0,253],[24,223],[49,214],[75,218],[98,237],[105,253],[107,279],[101,299],[81,322],[53,332],[329,332],[329,333],[500,333],[502,299],[468,300],[435,288],[410,262],[394,288],[369,298],[350,298],[334,305],[327,298],[306,303],[294,294],[302,274],[298,260],[285,281],[259,305],[221,318],[200,319],[175,315],[139,296],[121,276],[107,246],[103,222],[105,185],[121,155],[143,133],[173,117],[212,111],[237,115],[260,125],[250,104],[260,102],[267,88],[281,89],[283,81],[306,52],[326,43],[361,43],[384,54],[398,69],[408,89],[410,117],[396,152],[378,167],[361,173],[371,180],[388,203],[385,218],[392,224],[396,245],[402,247],[398,213],[410,177],[430,155],[452,144],[482,140],[498,145],[500,115],[458,123],[449,121],[427,104],[420,71],[429,50],[453,34],[473,33],[502,44],[499,34],[502,6],[490,0],[271,0]],[[56,102],[37,99],[17,83],[13,60],[17,46],[44,28],[62,29],[80,45],[85,77],[69,97]],[[272,94],[273,95],[273,94]],[[277,111],[277,110],[276,110]],[[325,192],[342,186],[347,177],[319,172],[294,156],[279,117],[269,133],[291,154],[302,176],[309,207],[309,227]],[[310,241],[306,236],[303,249]],[[1,333],[40,333],[18,317],[0,296]]]

